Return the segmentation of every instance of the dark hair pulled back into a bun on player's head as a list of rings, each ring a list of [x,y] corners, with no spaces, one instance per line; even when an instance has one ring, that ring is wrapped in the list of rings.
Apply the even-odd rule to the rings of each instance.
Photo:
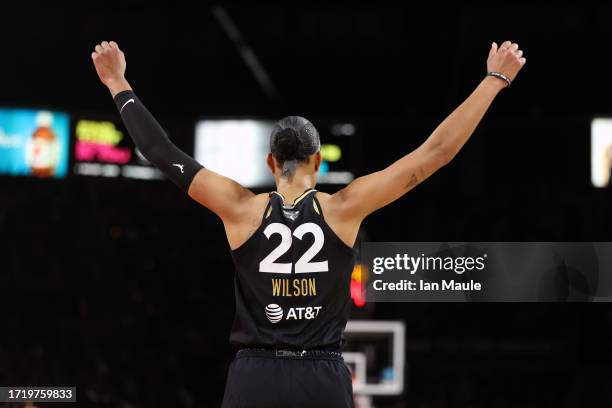
[[[279,120],[270,134],[270,152],[282,166],[283,176],[293,176],[298,162],[321,149],[319,132],[301,116],[287,116]]]

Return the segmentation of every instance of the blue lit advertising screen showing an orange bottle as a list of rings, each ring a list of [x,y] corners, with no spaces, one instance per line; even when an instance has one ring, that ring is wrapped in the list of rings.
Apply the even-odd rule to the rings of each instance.
[[[68,149],[68,114],[0,109],[0,174],[65,177]]]

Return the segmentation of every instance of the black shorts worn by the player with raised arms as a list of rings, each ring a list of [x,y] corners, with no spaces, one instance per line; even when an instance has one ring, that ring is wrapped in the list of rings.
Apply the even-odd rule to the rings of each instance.
[[[350,371],[341,356],[239,352],[229,367],[222,408],[259,407],[353,408]]]

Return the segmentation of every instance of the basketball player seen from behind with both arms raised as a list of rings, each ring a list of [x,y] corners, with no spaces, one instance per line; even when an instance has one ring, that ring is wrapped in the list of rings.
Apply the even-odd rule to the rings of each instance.
[[[230,341],[239,351],[223,407],[352,407],[340,349],[359,226],[457,155],[525,65],[518,45],[493,43],[487,75],[421,146],[335,194],[314,189],[320,140],[306,119],[289,116],[272,128],[270,153],[262,160],[276,191],[254,194],[168,139],[126,81],[125,57],[115,42],[97,45],[92,59],[138,149],[225,227],[236,269]]]

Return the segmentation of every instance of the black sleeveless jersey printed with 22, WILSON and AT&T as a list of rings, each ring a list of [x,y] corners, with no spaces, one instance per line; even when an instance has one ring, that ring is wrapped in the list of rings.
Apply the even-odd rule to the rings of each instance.
[[[232,251],[239,348],[337,349],[350,313],[355,254],[323,218],[317,191],[291,206],[273,191],[262,223]]]

